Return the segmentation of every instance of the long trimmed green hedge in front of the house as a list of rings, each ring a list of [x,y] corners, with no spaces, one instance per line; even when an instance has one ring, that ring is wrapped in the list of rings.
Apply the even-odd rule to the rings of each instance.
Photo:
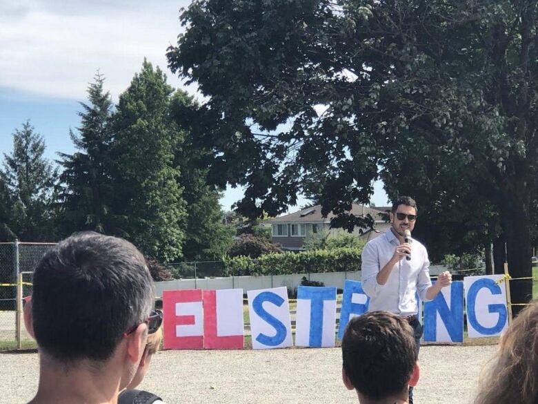
[[[259,258],[226,256],[223,260],[224,271],[228,276],[359,271],[361,251],[343,247],[299,253],[269,253]]]

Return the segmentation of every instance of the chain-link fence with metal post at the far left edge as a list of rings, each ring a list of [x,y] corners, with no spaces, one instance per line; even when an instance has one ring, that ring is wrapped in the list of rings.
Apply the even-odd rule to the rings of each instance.
[[[54,243],[0,243],[0,347],[10,347],[17,338],[17,281],[21,276],[21,297],[32,294],[32,274],[43,254]],[[22,327],[23,328],[23,327]],[[22,339],[29,338],[26,331]]]

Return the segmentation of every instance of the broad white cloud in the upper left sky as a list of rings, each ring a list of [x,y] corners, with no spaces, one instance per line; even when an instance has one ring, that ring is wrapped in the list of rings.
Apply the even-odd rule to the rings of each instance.
[[[183,29],[179,8],[188,0],[37,1],[0,3],[0,87],[84,99],[97,69],[114,99],[140,70],[144,57],[168,70],[166,48]]]

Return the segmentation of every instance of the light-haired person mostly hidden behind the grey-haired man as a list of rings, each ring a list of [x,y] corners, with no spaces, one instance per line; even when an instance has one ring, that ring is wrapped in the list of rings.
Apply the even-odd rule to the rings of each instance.
[[[159,312],[160,314],[160,312]],[[151,358],[157,353],[163,340],[163,331],[159,328],[154,334],[148,335],[148,343],[142,354],[142,358],[138,365],[137,373],[132,378],[131,383],[118,396],[118,404],[163,404],[163,401],[156,394],[146,392],[145,390],[137,390],[136,388],[142,383],[144,376],[148,373]]]

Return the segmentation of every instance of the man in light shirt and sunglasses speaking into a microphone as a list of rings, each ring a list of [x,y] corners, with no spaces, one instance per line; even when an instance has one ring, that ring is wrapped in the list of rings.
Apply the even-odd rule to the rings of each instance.
[[[434,299],[452,283],[452,275],[443,272],[432,285],[428,251],[417,240],[411,240],[417,221],[415,200],[400,196],[389,215],[390,229],[370,240],[362,251],[362,287],[370,297],[368,311],[386,310],[405,318],[414,330],[419,349],[422,326],[417,317],[416,294],[424,302]],[[413,403],[412,387],[409,403]]]

